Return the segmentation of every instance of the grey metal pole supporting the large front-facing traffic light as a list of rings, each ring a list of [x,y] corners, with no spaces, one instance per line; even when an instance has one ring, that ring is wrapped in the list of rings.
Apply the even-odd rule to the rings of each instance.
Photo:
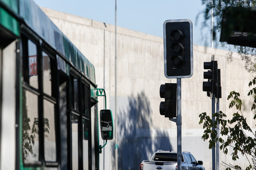
[[[182,148],[181,148],[181,125],[182,125],[182,117],[181,117],[181,79],[177,78],[177,168],[181,170],[181,156],[182,156]]]

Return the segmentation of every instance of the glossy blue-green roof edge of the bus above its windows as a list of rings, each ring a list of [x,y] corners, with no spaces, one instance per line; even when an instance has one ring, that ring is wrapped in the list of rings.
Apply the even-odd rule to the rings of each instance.
[[[38,34],[42,40],[65,56],[74,67],[84,73],[92,83],[96,84],[92,63],[68,40],[33,0],[0,1],[4,2],[14,13],[18,13],[18,16],[24,20],[25,24]],[[15,34],[15,30],[10,31]]]

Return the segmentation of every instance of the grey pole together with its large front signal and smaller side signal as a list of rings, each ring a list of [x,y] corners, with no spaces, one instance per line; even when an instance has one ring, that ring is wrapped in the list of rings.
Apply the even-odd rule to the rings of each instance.
[[[177,115],[170,115],[170,110],[176,111],[175,106],[170,107],[170,99],[160,103],[160,115],[166,117],[166,112],[169,112],[169,120],[176,122],[177,169],[181,170],[181,79],[193,75],[193,28],[190,20],[166,20],[164,22],[164,75],[168,79],[177,78],[177,105],[175,104]],[[160,87],[160,97],[163,98],[161,89]],[[175,103],[174,100],[172,103]],[[173,119],[175,116],[176,119]]]

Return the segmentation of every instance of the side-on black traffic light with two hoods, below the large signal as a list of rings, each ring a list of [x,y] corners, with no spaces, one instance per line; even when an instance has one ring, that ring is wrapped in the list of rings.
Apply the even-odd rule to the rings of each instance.
[[[169,117],[169,119],[176,117],[177,107],[177,84],[165,83],[160,86],[160,97],[164,98],[164,101],[160,103],[160,115]]]

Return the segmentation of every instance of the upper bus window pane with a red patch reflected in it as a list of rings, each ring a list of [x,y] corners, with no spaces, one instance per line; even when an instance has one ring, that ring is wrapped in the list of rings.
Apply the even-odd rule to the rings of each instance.
[[[29,84],[38,89],[38,72],[37,72],[37,51],[36,44],[28,40],[28,67],[29,67]]]

